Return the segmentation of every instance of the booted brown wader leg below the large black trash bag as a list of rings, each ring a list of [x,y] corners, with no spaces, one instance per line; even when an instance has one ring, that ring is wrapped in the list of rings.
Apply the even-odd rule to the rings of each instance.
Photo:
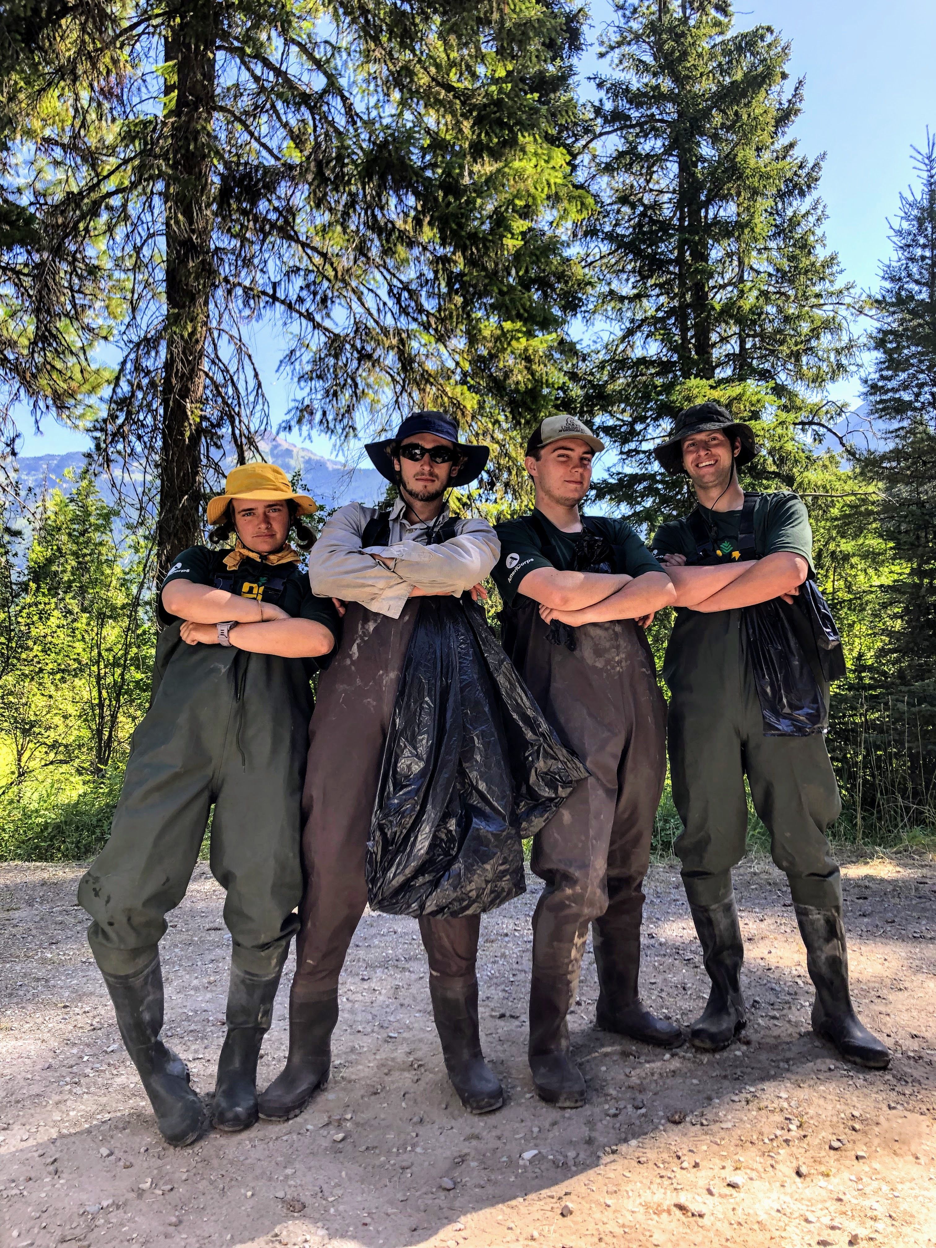
[[[469,1113],[504,1103],[500,1081],[484,1061],[478,1027],[478,934],[480,916],[419,920],[429,957],[429,997],[446,1070]]]

